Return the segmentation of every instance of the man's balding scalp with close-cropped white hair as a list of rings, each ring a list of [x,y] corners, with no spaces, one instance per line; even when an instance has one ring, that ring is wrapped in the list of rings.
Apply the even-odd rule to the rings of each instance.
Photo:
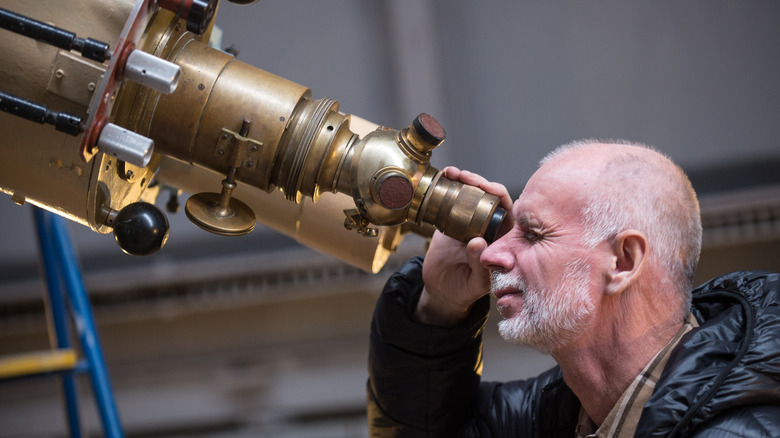
[[[573,196],[589,244],[627,229],[645,234],[653,265],[687,303],[701,250],[701,220],[682,169],[644,145],[581,141],[548,154],[539,172],[575,177]]]

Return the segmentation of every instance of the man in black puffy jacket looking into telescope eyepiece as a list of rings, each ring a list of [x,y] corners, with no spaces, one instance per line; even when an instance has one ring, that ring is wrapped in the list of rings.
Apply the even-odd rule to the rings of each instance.
[[[691,294],[698,201],[662,154],[581,142],[542,160],[489,246],[434,235],[374,314],[373,437],[780,436],[780,276],[734,273]],[[558,363],[480,382],[490,306],[508,341]],[[521,366],[521,365],[519,365]]]

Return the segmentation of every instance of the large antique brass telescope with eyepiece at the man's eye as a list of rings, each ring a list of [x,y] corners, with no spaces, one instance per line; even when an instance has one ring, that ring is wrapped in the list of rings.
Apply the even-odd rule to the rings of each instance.
[[[433,149],[445,139],[433,117],[420,114],[400,130],[356,129],[358,118],[340,112],[335,100],[313,99],[308,88],[210,47],[216,1],[81,0],[75,3],[83,9],[75,11],[59,1],[7,3],[12,14],[94,35],[108,55],[85,60],[73,48],[41,48],[29,36],[0,30],[3,59],[35,54],[25,66],[29,74],[14,63],[0,66],[0,91],[81,120],[70,137],[26,121],[28,132],[17,135],[10,126],[19,119],[0,113],[0,131],[9,137],[0,146],[0,188],[17,203],[40,205],[97,232],[114,229],[126,252],[153,253],[164,243],[146,247],[128,239],[120,223],[146,213],[123,209],[152,202],[155,179],[187,186],[176,175],[182,165],[220,175],[221,184],[195,193],[185,210],[196,225],[222,235],[246,234],[256,220],[286,214],[256,211],[237,198],[242,186],[280,193],[291,208],[321,198],[329,203],[327,193],[349,197],[349,205],[338,207],[343,226],[377,239],[385,251],[406,232],[435,227],[463,242],[492,241],[507,226],[495,196],[431,166]],[[185,10],[199,3],[201,9]],[[121,22],[116,15],[127,15],[121,30],[110,25]],[[30,152],[32,142],[44,146]]]

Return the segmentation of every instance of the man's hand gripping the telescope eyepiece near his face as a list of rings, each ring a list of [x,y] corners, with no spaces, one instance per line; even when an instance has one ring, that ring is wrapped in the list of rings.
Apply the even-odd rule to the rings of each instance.
[[[511,211],[512,200],[503,185],[455,167],[445,168],[444,176],[498,196],[501,207]],[[481,237],[464,244],[434,233],[423,263],[425,288],[414,314],[418,321],[452,326],[468,316],[471,306],[490,292],[490,272],[479,260],[485,248],[487,242]]]

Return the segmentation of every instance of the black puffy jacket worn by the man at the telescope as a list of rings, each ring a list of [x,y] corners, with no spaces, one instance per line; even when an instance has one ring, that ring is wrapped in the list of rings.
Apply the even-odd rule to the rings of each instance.
[[[454,328],[414,322],[422,259],[387,282],[371,326],[372,437],[574,436],[580,403],[557,367],[480,382],[485,297]],[[735,272],[693,292],[683,336],[639,420],[638,437],[780,437],[780,275]]]

